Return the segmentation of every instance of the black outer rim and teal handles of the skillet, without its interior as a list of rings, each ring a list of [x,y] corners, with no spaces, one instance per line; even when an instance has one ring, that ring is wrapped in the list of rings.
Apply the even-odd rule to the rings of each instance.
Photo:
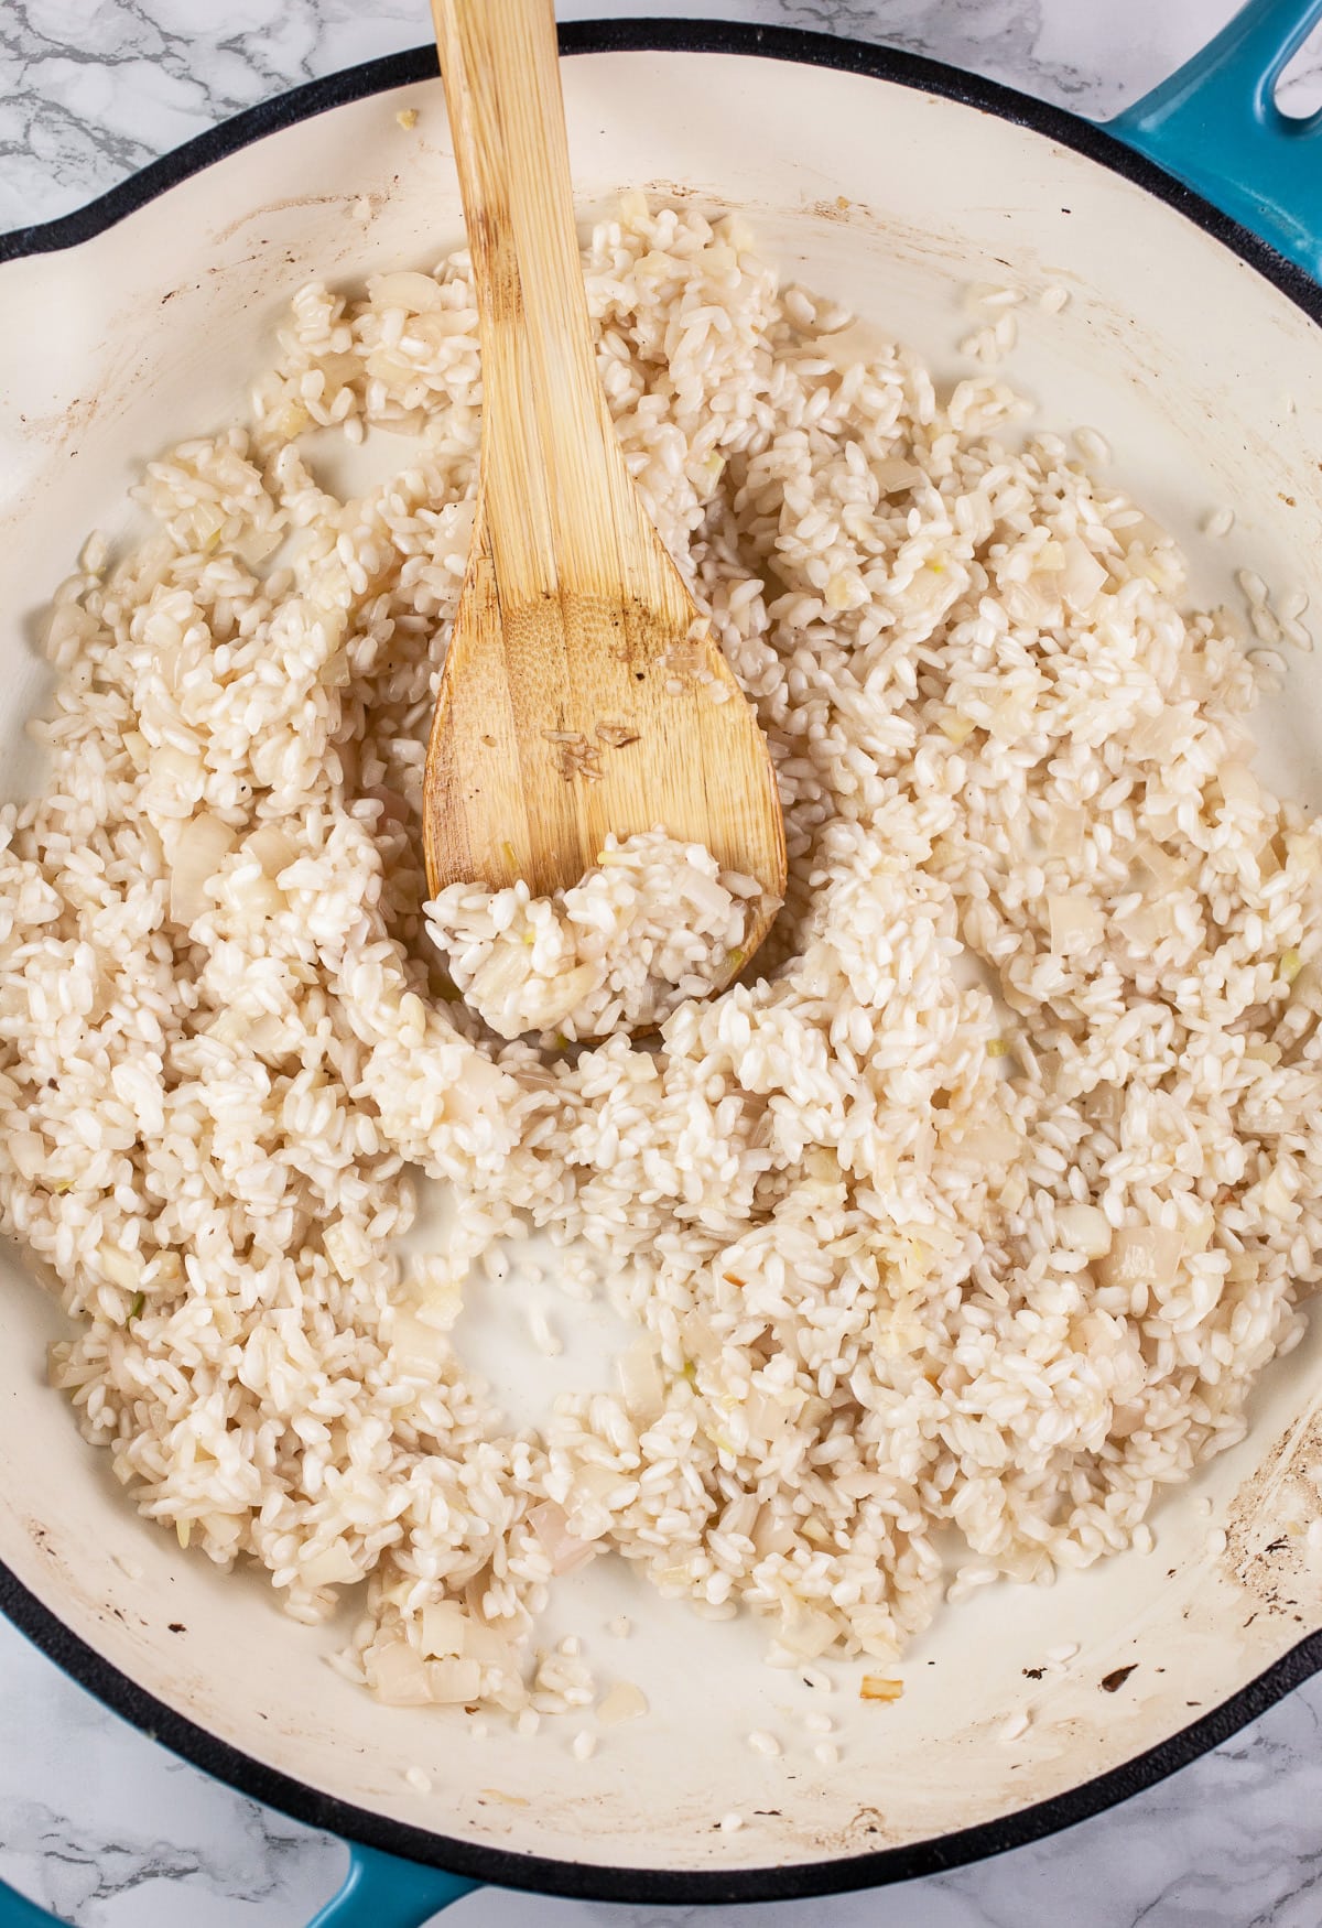
[[[1283,295],[1322,322],[1322,166],[1312,166],[1322,114],[1285,120],[1274,102],[1280,73],[1322,17],[1322,0],[1251,0],[1181,67],[1114,121],[1095,125],[992,81],[933,60],[792,29],[719,21],[632,19],[561,27],[561,52],[682,50],[759,56],[871,75],[994,114],[1073,148],[1177,208]],[[54,222],[0,235],[0,262],[75,249],[227,154],[351,100],[436,75],[436,48],[372,60],[251,108],[143,168],[131,179]],[[592,1901],[788,1901],[904,1882],[1037,1841],[1114,1807],[1218,1747],[1293,1687],[1322,1670],[1322,1631],[1214,1712],[1114,1772],[1004,1820],[910,1847],[838,1862],[732,1872],[588,1866],[511,1855],[422,1832],[330,1799],[214,1739],[156,1700],[56,1620],[4,1566],[0,1610],[106,1706],[241,1793],[343,1835],[345,1886],[312,1928],[416,1928],[480,1884]],[[52,1916],[0,1884],[0,1928],[50,1928]]]

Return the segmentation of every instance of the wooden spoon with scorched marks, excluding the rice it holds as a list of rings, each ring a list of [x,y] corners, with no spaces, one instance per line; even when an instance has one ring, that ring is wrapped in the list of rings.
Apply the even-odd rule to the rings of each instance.
[[[597,380],[551,0],[432,0],[482,332],[482,474],[426,760],[432,893],[574,885],[663,825],[784,897],[767,740]],[[732,974],[732,972],[730,972]]]

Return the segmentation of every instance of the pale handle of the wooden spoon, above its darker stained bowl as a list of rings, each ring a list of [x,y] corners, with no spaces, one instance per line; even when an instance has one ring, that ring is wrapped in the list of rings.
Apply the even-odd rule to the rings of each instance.
[[[482,513],[513,600],[642,590],[595,370],[553,0],[432,0],[482,335]]]

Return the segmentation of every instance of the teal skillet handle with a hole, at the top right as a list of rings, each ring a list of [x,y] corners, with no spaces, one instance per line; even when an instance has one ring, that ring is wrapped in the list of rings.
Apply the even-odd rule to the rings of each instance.
[[[1322,0],[1249,0],[1203,52],[1106,131],[1322,280],[1322,114],[1291,120],[1276,83]]]

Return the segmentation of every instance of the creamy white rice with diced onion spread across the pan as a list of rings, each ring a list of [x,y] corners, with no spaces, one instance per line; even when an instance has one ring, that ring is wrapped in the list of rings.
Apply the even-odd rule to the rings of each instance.
[[[603,1550],[802,1662],[1125,1546],[1243,1434],[1322,1247],[1322,843],[1249,771],[1231,619],[994,376],[937,391],[736,222],[634,202],[588,287],[773,742],[769,977],[659,1047],[453,1001],[418,802],[464,254],[306,287],[252,428],[148,467],[154,534],[56,596],[52,775],[0,858],[4,1222],[83,1431],[295,1616],[366,1579],[345,1664],[382,1697],[532,1724],[592,1700],[528,1635]],[[333,499],[301,434],[376,422],[409,467]],[[405,1259],[424,1180],[457,1230]],[[464,1294],[518,1321],[491,1280],[536,1226],[636,1321],[545,1434],[449,1338]]]

